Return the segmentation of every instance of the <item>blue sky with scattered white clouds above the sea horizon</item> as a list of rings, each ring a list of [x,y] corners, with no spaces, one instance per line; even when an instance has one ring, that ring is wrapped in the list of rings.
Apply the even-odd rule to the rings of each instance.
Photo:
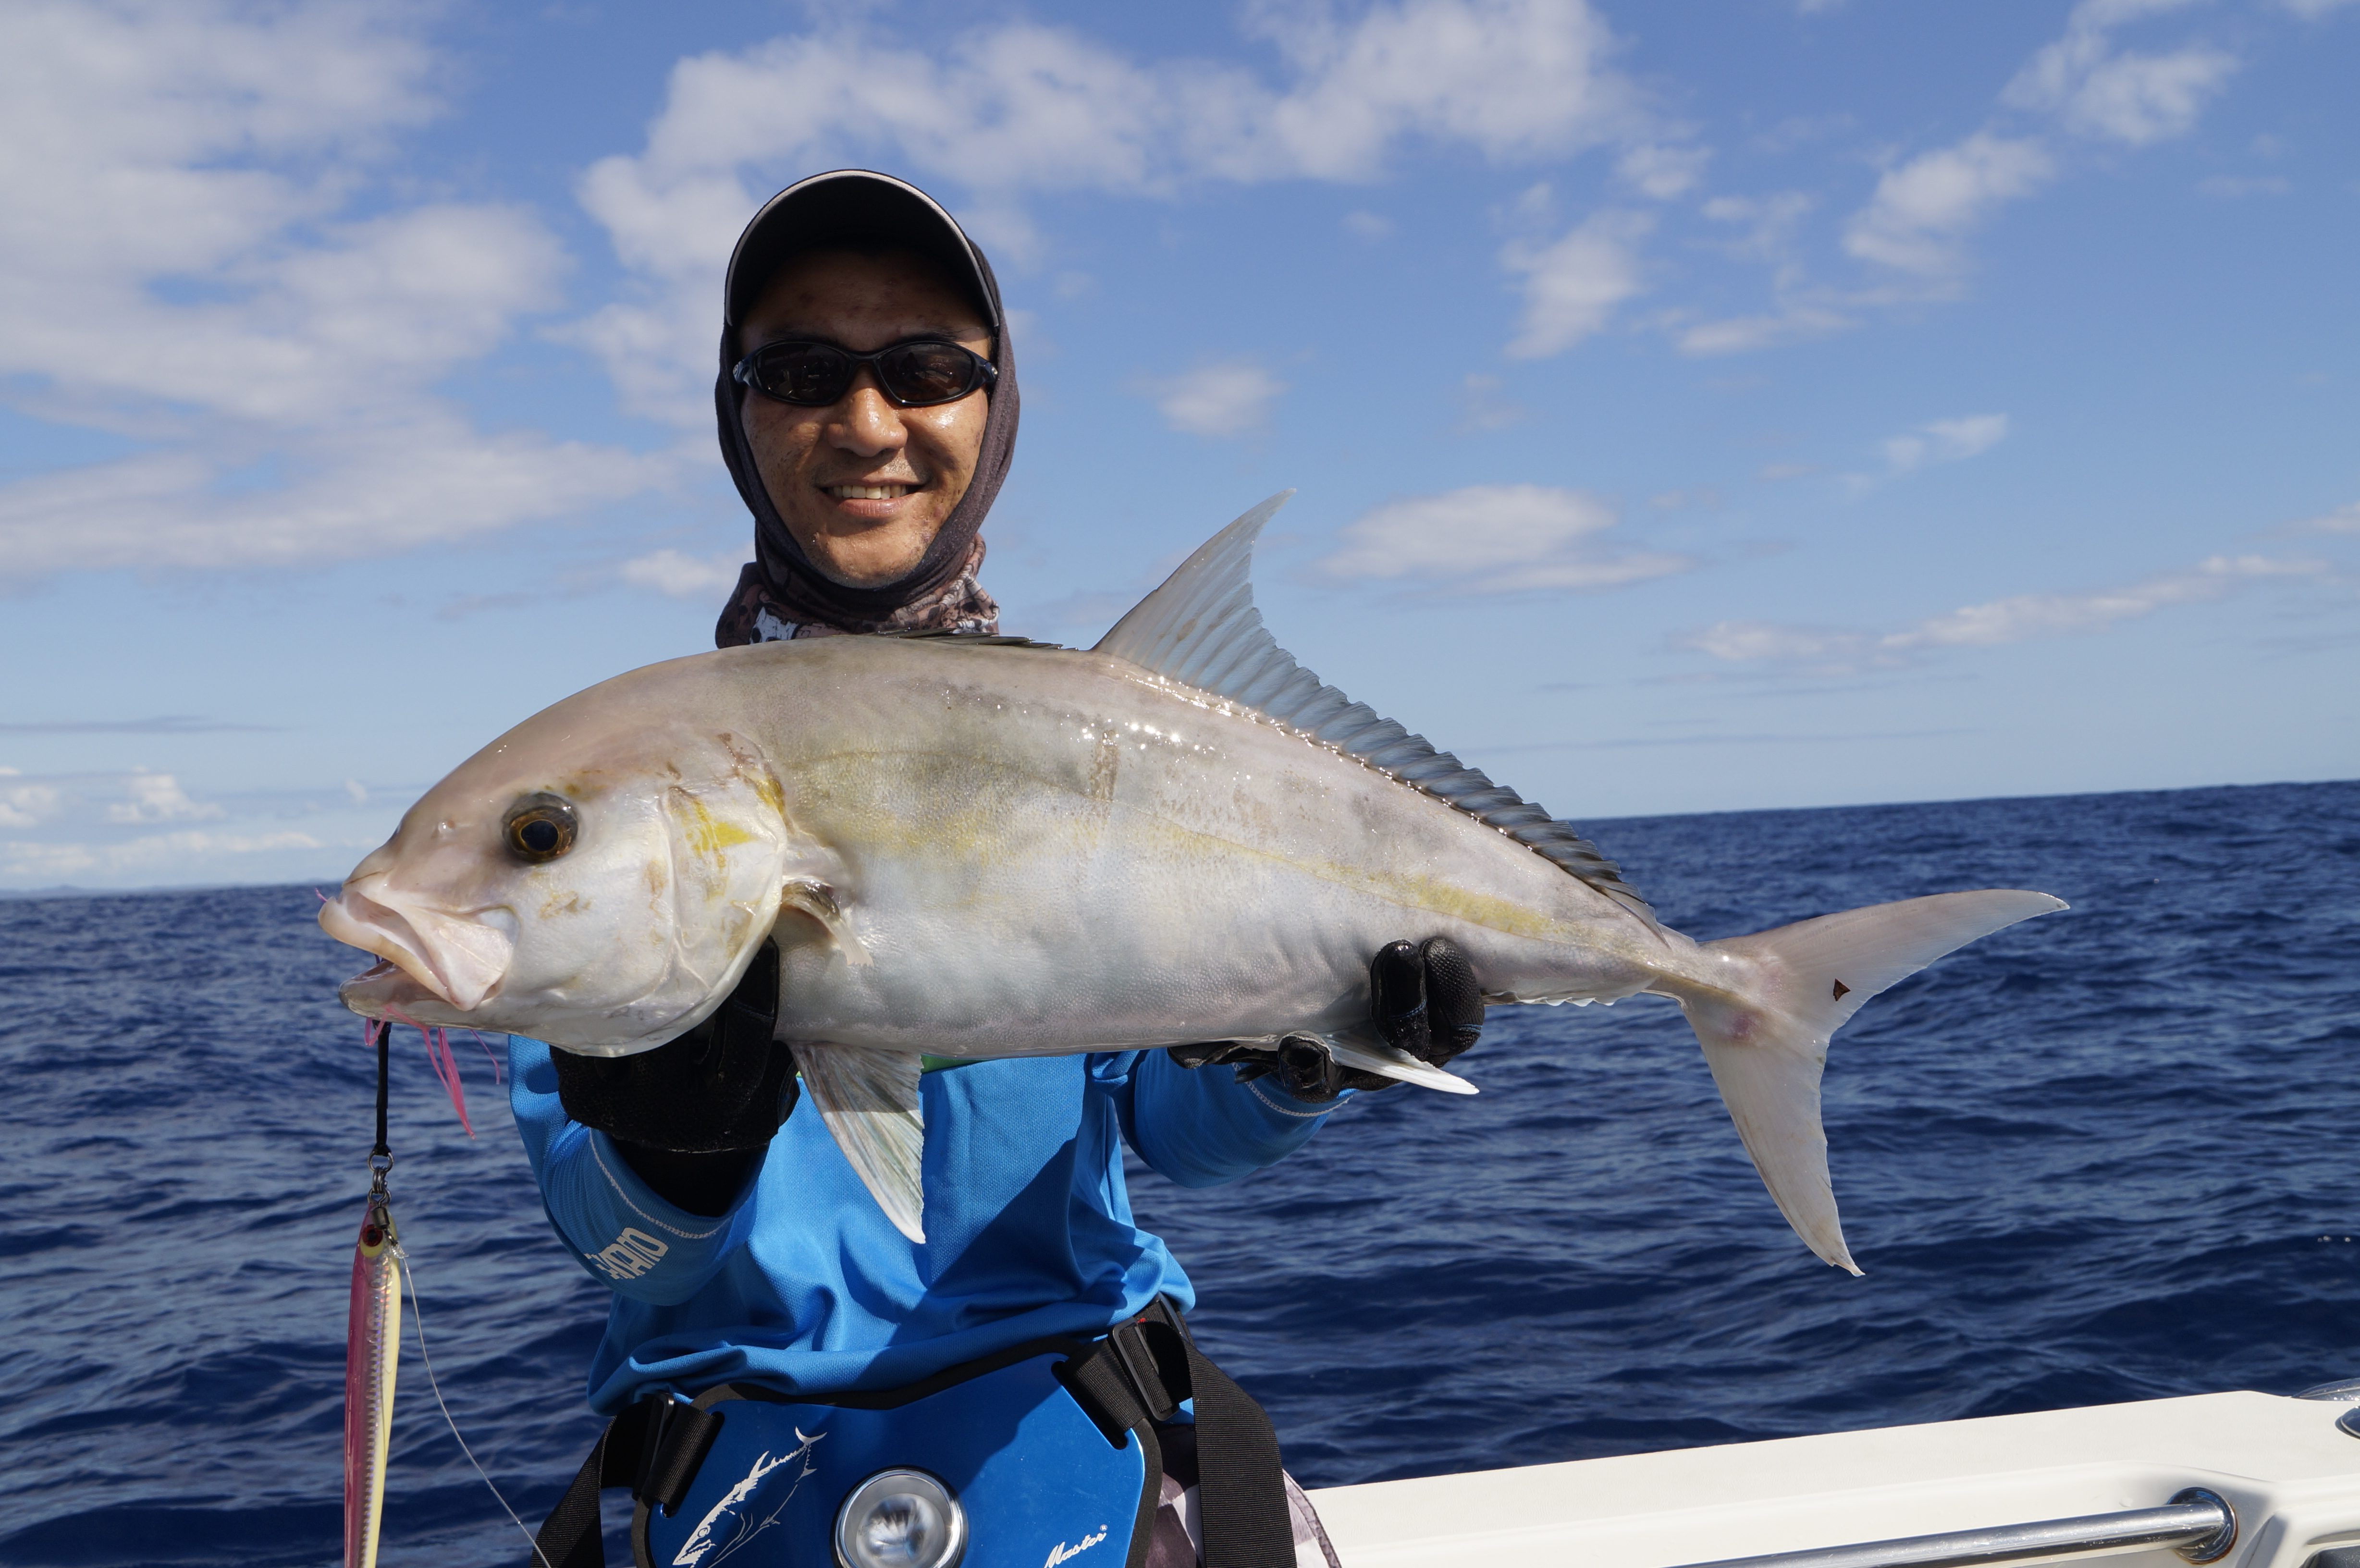
[[[720,267],[847,163],[1017,312],[1008,631],[1293,486],[1279,640],[1576,822],[2360,775],[2355,66],[2353,0],[12,5],[0,888],[333,883],[708,647]]]

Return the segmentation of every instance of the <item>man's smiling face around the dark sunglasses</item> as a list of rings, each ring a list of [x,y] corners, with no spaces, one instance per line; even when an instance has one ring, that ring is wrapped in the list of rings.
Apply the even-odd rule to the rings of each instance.
[[[949,338],[991,354],[991,331],[927,260],[887,250],[809,250],[762,288],[739,326],[739,354],[786,338],[880,349],[904,338]],[[909,576],[968,494],[984,446],[989,392],[956,404],[897,409],[861,366],[826,409],[746,392],[741,420],[762,486],[819,571],[847,588]]]

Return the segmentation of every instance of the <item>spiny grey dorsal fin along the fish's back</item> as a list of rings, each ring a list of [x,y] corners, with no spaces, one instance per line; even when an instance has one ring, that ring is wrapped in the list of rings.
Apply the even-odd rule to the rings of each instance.
[[[1369,704],[1322,682],[1279,647],[1253,607],[1253,541],[1286,505],[1279,491],[1208,538],[1163,586],[1130,607],[1090,652],[1128,659],[1142,671],[1211,692],[1312,739],[1355,756],[1378,772],[1496,827],[1532,852],[1579,876],[1650,926],[1654,909],[1621,878],[1621,869],[1569,824],[1553,819],[1513,789],[1494,784],[1449,751],[1411,734]]]

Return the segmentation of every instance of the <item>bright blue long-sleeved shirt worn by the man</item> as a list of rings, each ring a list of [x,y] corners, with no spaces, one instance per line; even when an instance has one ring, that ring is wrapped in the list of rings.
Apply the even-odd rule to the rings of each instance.
[[[925,1242],[885,1219],[809,1098],[722,1216],[658,1197],[569,1122],[540,1041],[512,1037],[510,1105],[550,1226],[614,1287],[590,1405],[748,1379],[892,1389],[1050,1334],[1107,1332],[1197,1294],[1130,1219],[1121,1143],[1189,1188],[1303,1145],[1343,1103],[1178,1067],[1163,1051],[968,1063],[920,1079]]]

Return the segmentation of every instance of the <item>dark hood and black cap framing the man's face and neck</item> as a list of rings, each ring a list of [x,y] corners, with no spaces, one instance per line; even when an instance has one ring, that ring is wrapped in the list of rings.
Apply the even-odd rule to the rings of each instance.
[[[798,250],[831,243],[904,246],[932,257],[965,286],[991,326],[991,361],[1001,378],[986,394],[984,449],[975,477],[918,567],[883,588],[845,588],[824,576],[786,531],[755,468],[739,409],[746,387],[732,380],[739,361],[736,328],[779,264]],[[868,170],[835,170],[800,179],[765,203],[739,236],[729,257],[722,307],[722,366],[713,383],[722,460],[753,512],[753,562],[739,574],[736,593],[722,609],[713,640],[720,647],[824,638],[868,631],[998,631],[998,605],[975,574],[984,564],[984,512],[1001,494],[1017,449],[1017,364],[1008,349],[1008,316],[991,262],[965,229],[918,187]]]

